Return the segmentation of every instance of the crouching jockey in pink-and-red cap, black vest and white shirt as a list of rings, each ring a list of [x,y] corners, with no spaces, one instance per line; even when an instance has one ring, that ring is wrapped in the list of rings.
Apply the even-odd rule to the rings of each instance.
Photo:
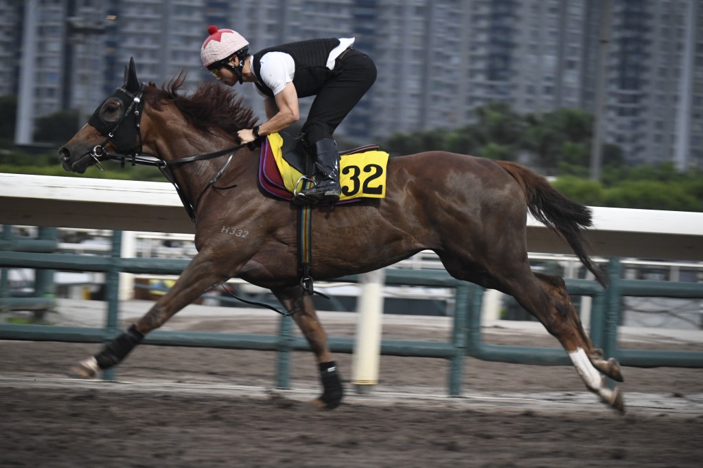
[[[205,65],[218,81],[233,86],[254,83],[264,98],[266,121],[238,132],[242,143],[283,130],[299,119],[298,98],[314,95],[304,139],[315,153],[315,185],[300,192],[295,203],[334,203],[340,198],[340,154],[332,133],[376,79],[368,55],[350,39],[311,39],[266,48],[250,55],[249,43],[231,29],[207,28],[200,49]]]

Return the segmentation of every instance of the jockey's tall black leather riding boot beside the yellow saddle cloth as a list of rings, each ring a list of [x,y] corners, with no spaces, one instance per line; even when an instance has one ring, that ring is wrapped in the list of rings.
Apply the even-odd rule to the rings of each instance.
[[[315,185],[300,192],[293,201],[305,203],[335,203],[340,199],[340,152],[332,138],[315,143],[317,158]]]

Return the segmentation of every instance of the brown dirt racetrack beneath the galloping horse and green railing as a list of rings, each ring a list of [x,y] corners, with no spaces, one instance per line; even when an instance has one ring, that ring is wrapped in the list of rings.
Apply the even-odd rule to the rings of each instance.
[[[169,325],[270,333],[276,320],[263,317]],[[327,328],[353,333],[348,317]],[[494,331],[486,336],[495,342],[555,345]],[[384,333],[446,337],[430,324],[387,323]],[[347,382],[344,404],[318,412],[306,403],[319,391],[307,353],[293,356],[290,391],[271,389],[276,354],[254,351],[143,346],[118,370],[134,383],[63,377],[97,349],[0,342],[1,466],[698,467],[703,456],[699,369],[624,368],[621,417],[586,392],[573,368],[467,358],[465,398],[454,399],[436,396],[446,393],[446,361],[383,356],[373,394]],[[351,356],[337,358],[348,378]]]

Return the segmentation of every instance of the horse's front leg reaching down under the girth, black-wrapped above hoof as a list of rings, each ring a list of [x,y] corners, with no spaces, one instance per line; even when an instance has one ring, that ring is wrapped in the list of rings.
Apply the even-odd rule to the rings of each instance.
[[[315,307],[309,295],[303,295],[300,286],[292,288],[272,290],[287,310],[294,310],[293,320],[310,344],[314,352],[320,371],[323,393],[318,399],[311,402],[313,406],[320,409],[333,410],[340,406],[344,387],[340,373],[337,370],[337,363],[333,361],[330,347],[327,343],[327,334],[318,321]]]

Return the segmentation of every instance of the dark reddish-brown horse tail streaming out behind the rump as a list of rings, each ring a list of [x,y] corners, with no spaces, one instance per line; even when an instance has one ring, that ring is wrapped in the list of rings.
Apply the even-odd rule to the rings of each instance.
[[[574,250],[581,263],[607,287],[607,276],[586,253],[589,248],[584,229],[593,225],[591,208],[567,199],[549,182],[528,168],[510,161],[496,161],[514,178],[524,192],[527,208],[539,222],[552,229]]]

